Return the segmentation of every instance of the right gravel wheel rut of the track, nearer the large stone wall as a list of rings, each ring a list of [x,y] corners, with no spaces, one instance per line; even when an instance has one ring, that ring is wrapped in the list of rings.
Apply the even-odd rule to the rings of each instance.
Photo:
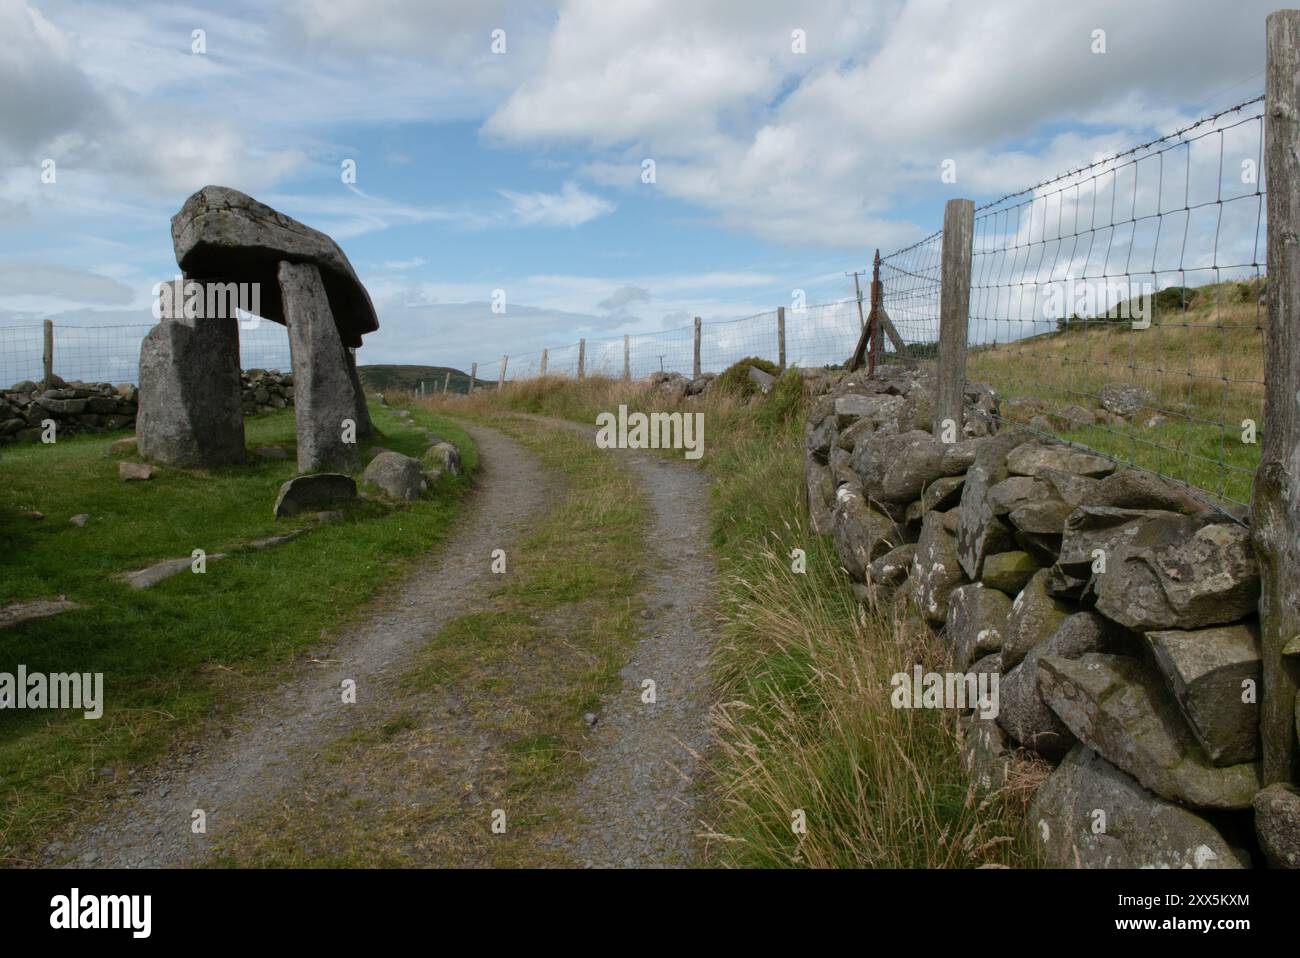
[[[593,428],[563,425],[594,437]],[[708,658],[716,641],[708,480],[685,460],[611,455],[623,456],[654,510],[641,593],[651,617],[623,668],[623,688],[592,729],[584,751],[590,768],[571,807],[578,827],[562,848],[586,867],[684,867],[698,851],[697,781],[708,744]],[[647,679],[653,705],[642,701]]]

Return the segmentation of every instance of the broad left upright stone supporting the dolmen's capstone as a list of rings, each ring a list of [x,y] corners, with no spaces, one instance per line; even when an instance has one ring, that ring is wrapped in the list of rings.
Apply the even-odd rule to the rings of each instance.
[[[162,283],[161,320],[140,344],[138,448],[166,465],[244,460],[238,320],[202,315],[205,300],[203,283]]]

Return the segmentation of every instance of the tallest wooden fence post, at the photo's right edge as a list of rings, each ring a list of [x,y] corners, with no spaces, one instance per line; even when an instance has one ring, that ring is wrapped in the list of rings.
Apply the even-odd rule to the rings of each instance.
[[[1295,699],[1300,666],[1282,650],[1300,638],[1300,10],[1268,18],[1264,161],[1269,183],[1264,442],[1251,529],[1260,560],[1260,744],[1264,784],[1295,777]]]

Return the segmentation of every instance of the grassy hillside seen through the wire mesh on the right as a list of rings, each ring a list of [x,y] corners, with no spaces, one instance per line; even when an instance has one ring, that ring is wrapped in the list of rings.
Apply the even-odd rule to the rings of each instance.
[[[1261,289],[1262,281],[1179,290],[1173,303],[1157,303],[1164,308],[1149,329],[1075,318],[1058,333],[975,347],[967,374],[1001,393],[1009,419],[1044,415],[1063,438],[1248,503],[1260,447],[1243,442],[1242,424],[1253,420],[1258,435],[1265,428]],[[1108,383],[1143,386],[1153,402],[1126,424],[1067,428],[1061,413],[1096,409]]]

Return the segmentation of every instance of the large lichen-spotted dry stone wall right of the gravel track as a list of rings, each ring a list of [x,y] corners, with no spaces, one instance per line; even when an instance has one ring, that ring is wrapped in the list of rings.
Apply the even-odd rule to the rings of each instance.
[[[922,666],[998,676],[996,718],[958,719],[976,783],[1056,767],[1031,809],[1048,866],[1300,867],[1300,792],[1261,790],[1248,530],[1156,476],[998,432],[980,383],[944,443],[930,377],[828,382],[809,512],[859,601],[940,636],[949,662]]]

